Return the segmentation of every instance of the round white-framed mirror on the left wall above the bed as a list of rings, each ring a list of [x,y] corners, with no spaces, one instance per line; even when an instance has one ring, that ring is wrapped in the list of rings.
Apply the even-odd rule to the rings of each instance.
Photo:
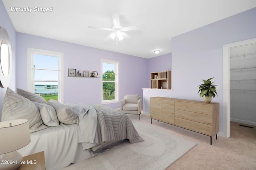
[[[7,88],[12,76],[12,49],[8,33],[0,27],[0,87]]]

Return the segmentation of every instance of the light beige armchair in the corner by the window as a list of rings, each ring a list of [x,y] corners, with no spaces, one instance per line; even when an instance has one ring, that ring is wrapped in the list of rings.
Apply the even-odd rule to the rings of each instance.
[[[126,114],[137,114],[140,119],[141,97],[138,94],[126,94],[120,101],[120,111]]]

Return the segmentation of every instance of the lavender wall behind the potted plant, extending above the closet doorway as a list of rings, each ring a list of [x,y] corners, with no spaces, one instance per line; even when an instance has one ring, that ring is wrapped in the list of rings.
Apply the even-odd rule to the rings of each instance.
[[[200,27],[172,38],[172,97],[192,100],[199,98],[202,79],[215,77],[220,84],[220,131],[223,131],[223,70],[224,44],[256,37],[256,8],[224,20]],[[186,90],[185,90],[186,89]]]

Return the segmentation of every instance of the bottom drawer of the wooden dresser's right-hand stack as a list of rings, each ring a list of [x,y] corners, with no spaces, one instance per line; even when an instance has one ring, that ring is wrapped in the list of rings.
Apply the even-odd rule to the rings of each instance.
[[[196,121],[190,121],[186,119],[182,119],[179,117],[174,117],[175,125],[184,127],[186,129],[190,129],[192,131],[196,131],[199,133],[203,133],[205,135],[212,136],[212,126],[206,125],[204,123],[199,123]]]

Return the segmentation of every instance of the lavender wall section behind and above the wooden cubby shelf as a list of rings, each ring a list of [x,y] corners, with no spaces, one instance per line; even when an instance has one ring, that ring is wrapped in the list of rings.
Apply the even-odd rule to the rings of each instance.
[[[148,59],[148,86],[144,88],[150,88],[151,86],[151,72],[158,71],[171,71],[172,70],[172,53],[160,55],[158,57],[154,57]]]

